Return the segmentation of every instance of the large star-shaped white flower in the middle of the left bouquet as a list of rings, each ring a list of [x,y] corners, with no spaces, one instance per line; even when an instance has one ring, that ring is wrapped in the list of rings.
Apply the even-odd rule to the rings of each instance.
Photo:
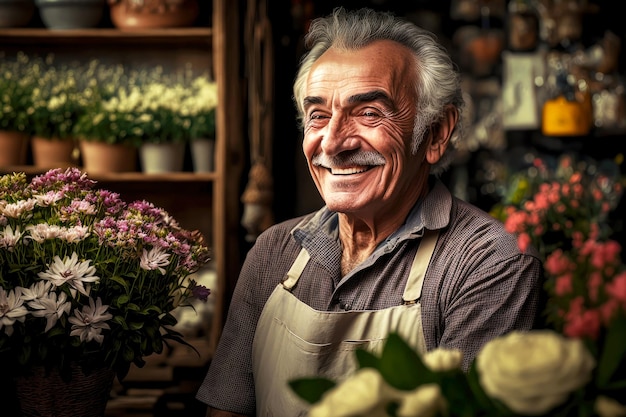
[[[96,282],[100,279],[100,277],[94,275],[96,268],[91,266],[90,263],[90,260],[79,262],[76,252],[73,252],[70,258],[65,257],[64,260],[55,255],[48,269],[37,275],[41,279],[49,280],[56,287],[68,284],[81,294],[89,295],[84,284]]]

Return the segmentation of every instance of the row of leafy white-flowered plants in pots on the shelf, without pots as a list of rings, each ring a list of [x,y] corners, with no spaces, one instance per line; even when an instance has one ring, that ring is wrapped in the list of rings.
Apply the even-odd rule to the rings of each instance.
[[[166,74],[19,53],[0,63],[0,128],[43,138],[139,146],[215,135],[217,85],[190,68]]]

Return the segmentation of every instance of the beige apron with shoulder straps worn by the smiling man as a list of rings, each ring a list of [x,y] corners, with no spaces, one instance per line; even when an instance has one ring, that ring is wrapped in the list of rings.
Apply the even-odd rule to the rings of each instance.
[[[383,310],[317,311],[298,300],[290,290],[309,260],[302,249],[285,281],[267,300],[254,336],[257,417],[306,415],[308,404],[293,393],[289,381],[315,376],[341,380],[357,367],[356,349],[379,353],[391,331],[418,352],[426,350],[419,298],[437,236],[427,231],[419,246],[404,304]]]

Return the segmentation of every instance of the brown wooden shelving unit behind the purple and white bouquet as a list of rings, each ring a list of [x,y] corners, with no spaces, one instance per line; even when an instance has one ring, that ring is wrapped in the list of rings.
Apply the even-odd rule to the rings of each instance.
[[[60,60],[117,62],[125,66],[161,65],[175,71],[191,65],[208,71],[218,83],[215,168],[210,173],[141,172],[89,175],[125,199],[146,199],[164,207],[183,227],[199,229],[209,241],[216,288],[212,288],[210,333],[197,340],[200,357],[210,358],[221,333],[239,266],[240,182],[243,173],[243,81],[240,76],[240,13],[237,2],[213,0],[211,27],[118,30],[115,28],[48,30],[0,29],[0,59],[18,51],[55,54]],[[34,166],[0,167],[0,172],[43,173]],[[193,359],[195,358],[195,359]],[[174,361],[170,366],[176,367]]]

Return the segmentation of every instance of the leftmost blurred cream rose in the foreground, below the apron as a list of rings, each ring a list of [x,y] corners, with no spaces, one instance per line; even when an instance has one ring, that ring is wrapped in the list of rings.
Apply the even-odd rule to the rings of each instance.
[[[386,405],[399,397],[373,368],[359,369],[354,375],[326,392],[309,410],[309,417],[387,417]]]

